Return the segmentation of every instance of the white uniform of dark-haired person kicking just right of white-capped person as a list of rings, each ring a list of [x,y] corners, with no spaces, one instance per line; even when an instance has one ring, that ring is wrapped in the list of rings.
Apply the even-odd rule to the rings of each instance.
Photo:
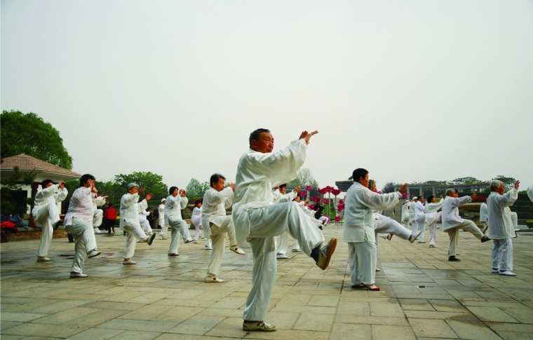
[[[190,242],[191,234],[189,233],[189,226],[182,219],[182,209],[187,207],[189,198],[177,195],[176,197],[169,195],[166,198],[165,205],[165,223],[170,226],[170,247],[168,254],[179,254],[180,250],[180,233],[185,242]]]

